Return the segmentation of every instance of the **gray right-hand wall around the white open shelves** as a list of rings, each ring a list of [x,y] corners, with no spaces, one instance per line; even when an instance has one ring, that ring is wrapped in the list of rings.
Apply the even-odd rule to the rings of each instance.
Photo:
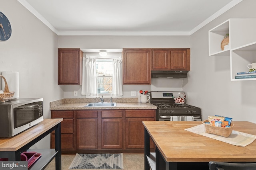
[[[203,119],[219,114],[256,123],[255,80],[230,81],[230,57],[208,55],[208,31],[229,18],[256,18],[255,6],[255,0],[243,0],[191,35],[191,70],[183,89]]]

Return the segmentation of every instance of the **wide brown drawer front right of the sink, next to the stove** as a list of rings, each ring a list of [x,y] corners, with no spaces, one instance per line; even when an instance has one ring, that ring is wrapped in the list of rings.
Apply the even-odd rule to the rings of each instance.
[[[125,117],[155,117],[155,110],[126,110]]]

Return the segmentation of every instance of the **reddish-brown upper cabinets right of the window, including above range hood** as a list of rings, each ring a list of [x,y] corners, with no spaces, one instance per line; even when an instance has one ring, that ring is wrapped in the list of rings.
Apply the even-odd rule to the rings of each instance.
[[[190,49],[123,49],[123,84],[151,84],[151,70],[190,70]]]

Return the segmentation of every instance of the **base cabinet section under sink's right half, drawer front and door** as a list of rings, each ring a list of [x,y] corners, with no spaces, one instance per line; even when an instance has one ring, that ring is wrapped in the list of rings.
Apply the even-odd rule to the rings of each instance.
[[[122,110],[101,111],[101,148],[122,149]]]

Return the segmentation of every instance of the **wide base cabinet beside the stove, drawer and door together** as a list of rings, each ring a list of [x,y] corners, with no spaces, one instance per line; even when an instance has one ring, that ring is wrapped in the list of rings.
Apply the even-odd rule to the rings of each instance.
[[[126,149],[144,149],[142,121],[154,121],[155,110],[125,110]],[[151,141],[150,147],[154,148]]]

